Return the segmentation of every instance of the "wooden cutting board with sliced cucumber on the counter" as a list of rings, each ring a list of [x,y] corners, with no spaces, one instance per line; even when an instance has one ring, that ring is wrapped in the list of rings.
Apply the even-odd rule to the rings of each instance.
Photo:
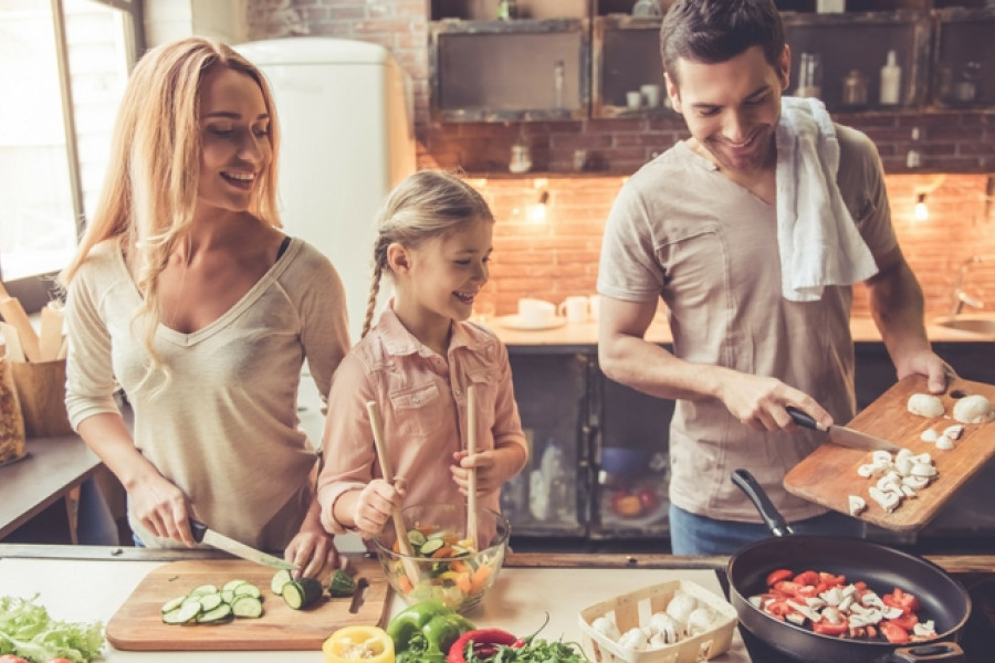
[[[105,627],[107,641],[132,651],[248,651],[314,650],[333,631],[355,624],[381,624],[387,614],[388,585],[376,559],[350,558],[350,572],[366,585],[363,602],[350,611],[353,600],[332,599],[326,593],[318,606],[291,610],[282,597],[270,591],[275,572],[240,559],[174,561],[149,572]],[[200,585],[221,587],[243,579],[263,594],[263,615],[235,619],[222,624],[165,624],[161,607],[169,599]],[[357,601],[358,602],[358,601]]]

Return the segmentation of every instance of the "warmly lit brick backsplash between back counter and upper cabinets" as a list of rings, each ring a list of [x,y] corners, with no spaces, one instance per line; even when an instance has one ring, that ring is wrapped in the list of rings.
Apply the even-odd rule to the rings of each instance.
[[[499,221],[485,288],[485,299],[495,304],[498,315],[514,313],[522,296],[561,302],[595,291],[605,219],[624,180],[609,176],[472,180]],[[995,212],[983,196],[986,183],[987,177],[981,175],[888,176],[896,232],[922,284],[929,317],[949,312],[957,267],[973,255],[989,261],[967,273],[965,288],[995,307]],[[530,221],[528,206],[543,190],[549,192],[546,221],[535,223]],[[919,191],[931,191],[925,221],[912,218]],[[855,315],[867,315],[862,286],[853,299]]]

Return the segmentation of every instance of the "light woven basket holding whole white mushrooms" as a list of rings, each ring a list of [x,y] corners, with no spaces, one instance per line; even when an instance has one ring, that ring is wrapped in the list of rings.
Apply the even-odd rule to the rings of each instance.
[[[720,615],[715,628],[694,638],[682,639],[667,646],[641,652],[622,649],[590,625],[597,618],[615,614],[618,630],[649,623],[650,615],[663,612],[677,590],[698,599]],[[690,580],[671,580],[616,597],[580,611],[584,645],[595,663],[694,663],[729,651],[736,629],[736,610],[727,601]]]

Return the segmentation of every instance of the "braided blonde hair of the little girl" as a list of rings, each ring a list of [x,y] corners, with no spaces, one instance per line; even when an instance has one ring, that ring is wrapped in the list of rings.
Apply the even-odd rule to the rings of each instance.
[[[373,324],[380,277],[390,271],[387,263],[390,244],[417,249],[428,240],[443,239],[478,220],[493,223],[494,214],[483,196],[455,175],[420,170],[401,181],[377,214],[374,277],[360,336],[366,336]]]

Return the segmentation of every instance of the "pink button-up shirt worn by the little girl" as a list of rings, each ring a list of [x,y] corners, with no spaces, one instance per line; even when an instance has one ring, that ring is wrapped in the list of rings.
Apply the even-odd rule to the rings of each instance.
[[[478,451],[517,444],[527,453],[507,349],[493,332],[454,322],[443,357],[415,338],[392,308],[384,311],[332,378],[318,477],[328,532],[347,532],[333,515],[338,496],[383,476],[366,410],[370,400],[380,408],[394,475],[407,480],[405,505],[465,502],[450,465],[452,454],[467,448],[470,385],[476,386]],[[500,511],[500,491],[479,503]]]

